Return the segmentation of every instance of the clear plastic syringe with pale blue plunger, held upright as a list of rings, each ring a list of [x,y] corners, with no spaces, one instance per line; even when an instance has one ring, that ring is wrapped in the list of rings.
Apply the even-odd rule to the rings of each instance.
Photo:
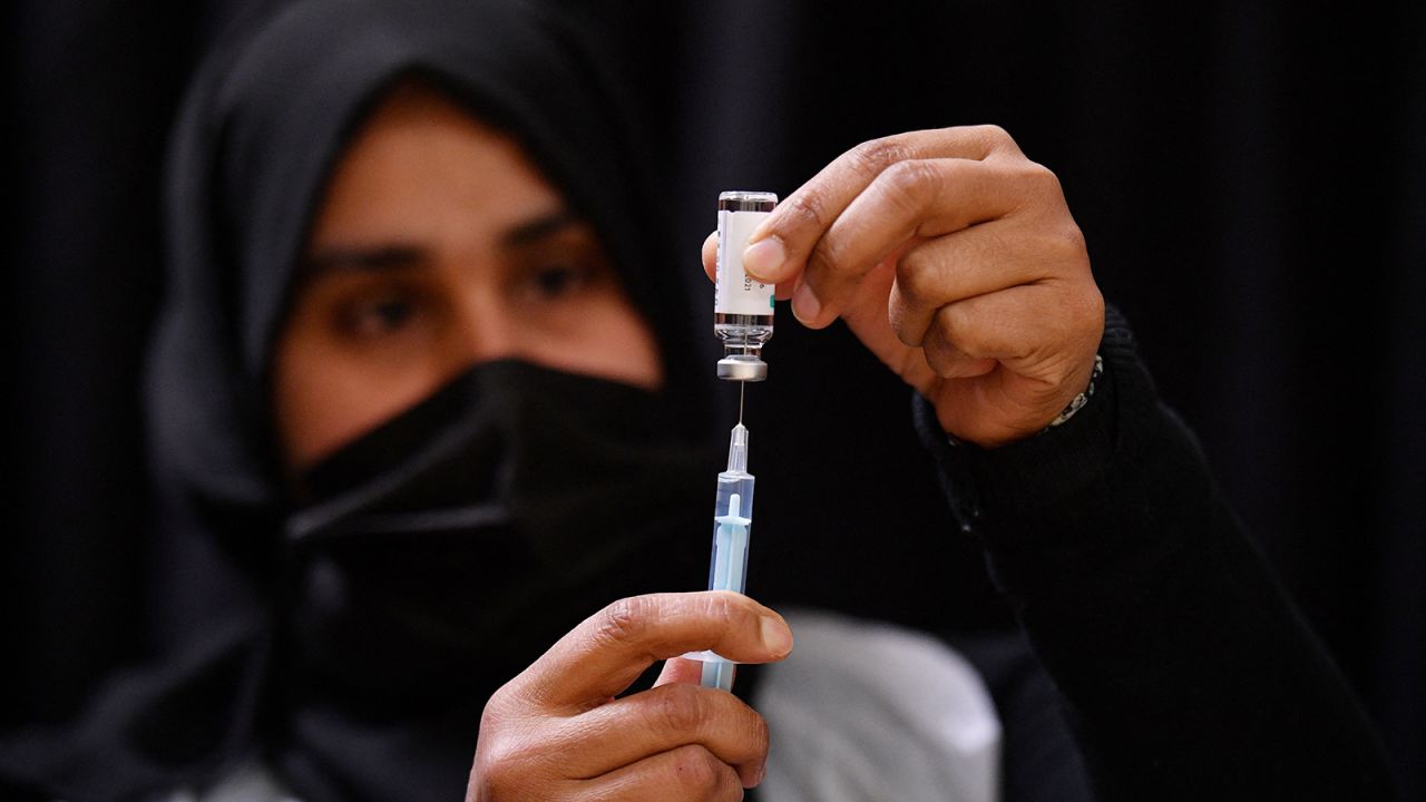
[[[753,528],[753,474],[747,472],[747,427],[733,427],[727,469],[717,475],[713,502],[713,558],[709,589],[742,594],[747,587],[747,544]],[[733,689],[733,662],[714,654],[703,656],[704,688]]]

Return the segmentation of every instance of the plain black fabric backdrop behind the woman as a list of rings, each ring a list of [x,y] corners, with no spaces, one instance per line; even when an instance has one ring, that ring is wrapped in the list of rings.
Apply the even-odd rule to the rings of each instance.
[[[240,6],[7,6],[6,726],[63,719],[161,639],[137,395],[163,285],[158,170],[183,83]],[[1060,174],[1164,397],[1426,798],[1426,6],[1035,6],[609,4],[679,268],[697,268],[719,190],[786,194],[900,130],[1008,128]],[[749,398],[750,591],[1005,625],[938,509],[907,391],[846,331],[790,314],[767,357]],[[781,542],[791,517],[871,544],[834,559]]]

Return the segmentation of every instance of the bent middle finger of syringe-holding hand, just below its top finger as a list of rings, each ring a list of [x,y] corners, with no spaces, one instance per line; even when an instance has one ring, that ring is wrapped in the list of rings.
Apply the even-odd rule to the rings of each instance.
[[[732,694],[673,684],[566,719],[553,735],[555,751],[565,755],[572,776],[586,778],[690,743],[733,766],[743,783],[752,785],[767,759],[767,724]]]

